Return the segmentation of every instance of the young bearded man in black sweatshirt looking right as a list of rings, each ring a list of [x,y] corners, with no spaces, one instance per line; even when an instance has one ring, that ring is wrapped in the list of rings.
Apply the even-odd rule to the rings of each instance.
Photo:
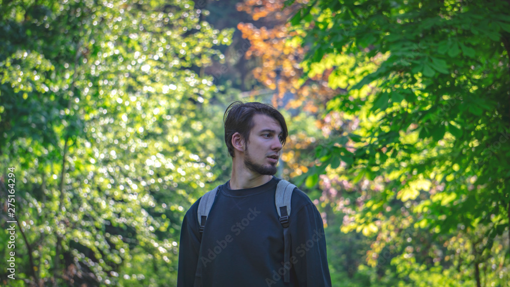
[[[223,119],[232,177],[218,187],[203,233],[197,215],[203,197],[186,213],[177,286],[331,286],[322,219],[310,198],[293,190],[285,235],[276,210],[281,179],[273,175],[288,136],[284,117],[263,103],[234,102]]]

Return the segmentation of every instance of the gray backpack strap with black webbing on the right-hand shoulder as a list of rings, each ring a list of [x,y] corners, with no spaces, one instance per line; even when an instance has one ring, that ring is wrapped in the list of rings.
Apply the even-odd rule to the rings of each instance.
[[[290,282],[290,232],[289,232],[289,216],[291,212],[291,199],[292,192],[296,188],[287,180],[280,180],[276,186],[276,193],[274,194],[274,204],[276,211],[280,217],[280,223],[284,227],[284,268],[286,269],[284,275],[284,282]]]

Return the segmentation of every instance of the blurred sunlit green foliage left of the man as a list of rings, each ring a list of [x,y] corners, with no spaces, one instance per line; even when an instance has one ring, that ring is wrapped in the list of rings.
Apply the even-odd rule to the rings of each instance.
[[[0,192],[14,167],[19,223],[2,285],[174,285],[184,213],[226,169],[224,103],[194,70],[232,31],[191,1],[1,6]]]

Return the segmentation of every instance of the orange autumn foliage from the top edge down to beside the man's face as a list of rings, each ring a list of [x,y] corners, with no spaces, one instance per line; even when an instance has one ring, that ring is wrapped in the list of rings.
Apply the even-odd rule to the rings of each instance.
[[[340,90],[327,86],[330,70],[305,78],[307,80],[301,79],[303,69],[299,63],[307,49],[289,43],[299,32],[291,30],[287,22],[301,5],[307,3],[307,0],[298,0],[284,8],[283,0],[246,0],[237,4],[237,10],[249,14],[254,21],[261,23],[261,27],[252,23],[239,23],[237,28],[251,44],[245,57],[255,59],[258,63],[253,69],[254,78],[268,89],[276,90],[272,105],[318,116],[324,112],[326,102],[339,94]],[[292,94],[290,100],[289,93]],[[322,119],[316,121],[324,136],[328,136],[332,129],[339,128],[332,124],[335,123],[324,122]],[[316,164],[314,150],[317,144],[317,139],[304,131],[291,136],[286,144],[286,152],[282,155],[286,163],[284,174],[298,176],[308,171],[307,166]]]

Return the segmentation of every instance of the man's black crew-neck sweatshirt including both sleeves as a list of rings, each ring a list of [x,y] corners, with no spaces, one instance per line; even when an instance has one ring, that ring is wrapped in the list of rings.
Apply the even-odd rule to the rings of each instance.
[[[331,286],[321,216],[297,188],[288,227],[290,284],[284,284],[284,228],[274,203],[279,180],[241,190],[231,190],[228,181],[220,186],[202,236],[200,199],[191,206],[181,230],[178,287],[200,286],[200,281],[203,287]],[[201,278],[195,282],[197,264],[202,265]]]

